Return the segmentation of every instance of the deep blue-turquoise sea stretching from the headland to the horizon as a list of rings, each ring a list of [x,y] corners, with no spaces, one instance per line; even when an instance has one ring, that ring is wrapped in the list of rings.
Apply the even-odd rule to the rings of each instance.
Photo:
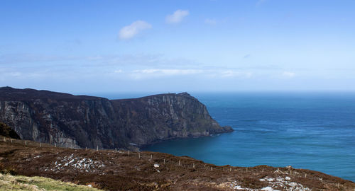
[[[143,150],[219,166],[307,168],[355,182],[355,93],[190,94],[234,132],[162,141]]]

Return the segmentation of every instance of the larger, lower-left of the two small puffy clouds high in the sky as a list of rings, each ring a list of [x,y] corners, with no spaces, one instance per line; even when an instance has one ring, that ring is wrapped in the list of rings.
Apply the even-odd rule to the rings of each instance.
[[[147,30],[152,28],[152,25],[146,21],[135,21],[131,25],[124,26],[119,30],[119,38],[122,40],[128,40],[136,36],[142,30]]]

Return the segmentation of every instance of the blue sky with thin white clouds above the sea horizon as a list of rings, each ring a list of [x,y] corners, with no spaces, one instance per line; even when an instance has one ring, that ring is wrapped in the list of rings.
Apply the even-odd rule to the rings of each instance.
[[[0,86],[355,91],[355,1],[0,1]]]

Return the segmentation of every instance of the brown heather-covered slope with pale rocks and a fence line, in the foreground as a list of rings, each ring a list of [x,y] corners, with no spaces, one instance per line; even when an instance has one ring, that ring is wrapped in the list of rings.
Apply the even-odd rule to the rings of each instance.
[[[214,166],[187,156],[148,151],[86,151],[0,140],[3,173],[43,176],[103,190],[355,189],[355,183],[349,180],[292,167]]]

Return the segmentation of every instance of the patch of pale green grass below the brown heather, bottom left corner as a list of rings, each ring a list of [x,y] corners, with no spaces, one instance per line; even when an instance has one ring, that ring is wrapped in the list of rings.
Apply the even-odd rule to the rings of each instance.
[[[94,191],[97,189],[84,185],[65,183],[43,177],[27,177],[22,175],[7,175],[0,173],[0,190],[70,190],[70,191]]]

